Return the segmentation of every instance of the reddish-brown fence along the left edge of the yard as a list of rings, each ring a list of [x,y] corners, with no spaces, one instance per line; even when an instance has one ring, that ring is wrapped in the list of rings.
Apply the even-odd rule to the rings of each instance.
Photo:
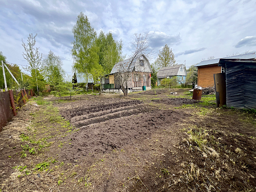
[[[0,92],[0,131],[2,131],[7,122],[12,120],[13,116],[17,115],[20,107],[32,96],[32,90]]]

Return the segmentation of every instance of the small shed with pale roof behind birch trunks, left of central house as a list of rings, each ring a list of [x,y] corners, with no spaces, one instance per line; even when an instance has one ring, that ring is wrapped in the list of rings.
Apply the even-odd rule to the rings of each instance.
[[[91,74],[74,73],[72,78],[72,84],[73,84],[73,87],[79,86],[79,87],[87,87],[88,89],[93,89],[93,84],[94,84],[93,77]]]

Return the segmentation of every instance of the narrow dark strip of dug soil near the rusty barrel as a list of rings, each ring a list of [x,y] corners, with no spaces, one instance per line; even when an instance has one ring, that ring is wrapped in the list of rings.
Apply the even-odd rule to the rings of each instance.
[[[187,98],[164,98],[164,99],[152,99],[151,101],[156,102],[156,103],[175,105],[175,106],[180,106],[183,104],[194,104],[194,103],[201,102],[198,100],[187,99]]]

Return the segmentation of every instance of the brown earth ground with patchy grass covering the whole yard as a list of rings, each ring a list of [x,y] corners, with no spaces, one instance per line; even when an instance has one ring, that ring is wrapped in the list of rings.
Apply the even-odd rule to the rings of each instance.
[[[255,113],[175,91],[30,101],[0,133],[0,189],[256,191]]]

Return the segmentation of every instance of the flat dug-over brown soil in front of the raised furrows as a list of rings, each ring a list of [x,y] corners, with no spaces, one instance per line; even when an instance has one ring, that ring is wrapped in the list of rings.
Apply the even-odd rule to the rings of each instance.
[[[70,140],[72,144],[65,151],[61,151],[59,158],[74,161],[89,154],[124,148],[138,140],[151,138],[151,134],[163,125],[172,124],[188,116],[183,112],[155,110],[145,106],[144,108],[140,106],[140,110],[136,113],[134,109],[129,111],[114,113],[109,118],[104,115],[104,122],[101,118],[94,118],[90,121],[93,124],[82,127],[80,123],[73,122],[73,125],[75,127],[78,125],[80,129],[72,136],[60,140],[61,142]],[[100,115],[98,112],[96,114]]]

